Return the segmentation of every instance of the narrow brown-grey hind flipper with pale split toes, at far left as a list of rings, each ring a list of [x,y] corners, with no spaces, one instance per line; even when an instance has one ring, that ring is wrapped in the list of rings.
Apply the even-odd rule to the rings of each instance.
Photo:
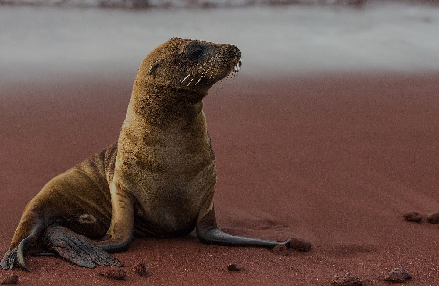
[[[24,251],[36,242],[46,228],[37,209],[37,205],[26,207],[12,238],[11,247],[0,262],[1,268],[12,269],[15,266],[29,271],[25,264]]]

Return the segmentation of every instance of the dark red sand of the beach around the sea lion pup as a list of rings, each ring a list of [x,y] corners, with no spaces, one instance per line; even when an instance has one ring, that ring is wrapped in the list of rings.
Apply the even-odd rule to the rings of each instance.
[[[243,82],[243,80],[240,80]],[[283,83],[282,83],[283,82]],[[280,84],[282,83],[282,84]],[[116,141],[131,81],[0,87],[2,255],[25,204],[50,178]],[[295,78],[232,84],[205,99],[219,173],[219,226],[264,239],[297,236],[309,252],[205,246],[194,233],[135,239],[126,281],[59,257],[26,257],[20,284],[331,285],[335,274],[387,285],[439,285],[437,225],[405,221],[439,210],[439,75]],[[148,278],[131,273],[146,264]],[[239,272],[227,264],[242,264]],[[130,284],[131,285],[131,284]]]

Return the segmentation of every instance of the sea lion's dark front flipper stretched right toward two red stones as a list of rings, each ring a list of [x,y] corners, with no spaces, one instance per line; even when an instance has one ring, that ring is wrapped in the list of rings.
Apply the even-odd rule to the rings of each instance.
[[[197,224],[197,236],[202,243],[225,245],[225,246],[262,246],[274,247],[283,244],[290,247],[291,237],[284,242],[277,242],[265,239],[252,239],[241,236],[234,236],[223,232],[216,225],[215,210],[209,210]]]

